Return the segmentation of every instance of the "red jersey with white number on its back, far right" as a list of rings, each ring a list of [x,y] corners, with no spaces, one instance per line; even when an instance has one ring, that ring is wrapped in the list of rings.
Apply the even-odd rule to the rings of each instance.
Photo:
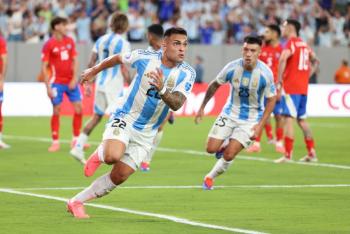
[[[286,48],[292,55],[283,73],[283,88],[287,94],[307,94],[310,77],[310,47],[299,37],[288,40]]]

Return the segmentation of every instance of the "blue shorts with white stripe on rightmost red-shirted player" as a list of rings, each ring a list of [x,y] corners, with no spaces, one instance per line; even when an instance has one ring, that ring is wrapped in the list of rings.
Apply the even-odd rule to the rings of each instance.
[[[296,119],[306,118],[307,95],[286,94],[282,97],[282,115]]]

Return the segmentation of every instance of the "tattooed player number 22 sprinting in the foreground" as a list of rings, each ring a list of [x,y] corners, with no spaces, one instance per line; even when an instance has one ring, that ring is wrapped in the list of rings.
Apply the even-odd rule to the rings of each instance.
[[[83,203],[102,197],[132,175],[152,149],[152,141],[169,109],[178,110],[190,94],[194,69],[184,62],[187,33],[170,28],[164,34],[163,52],[135,50],[113,55],[82,74],[83,81],[116,64],[131,64],[137,73],[128,94],[103,134],[103,142],[88,159],[84,173],[92,176],[101,163],[112,171],[97,178],[67,203],[76,218],[88,218]]]

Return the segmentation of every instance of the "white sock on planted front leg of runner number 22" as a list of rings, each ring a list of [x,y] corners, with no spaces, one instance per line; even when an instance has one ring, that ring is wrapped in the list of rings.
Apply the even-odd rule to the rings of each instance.
[[[92,184],[72,198],[72,201],[86,202],[97,197],[103,197],[111,192],[115,187],[110,172],[97,178]]]

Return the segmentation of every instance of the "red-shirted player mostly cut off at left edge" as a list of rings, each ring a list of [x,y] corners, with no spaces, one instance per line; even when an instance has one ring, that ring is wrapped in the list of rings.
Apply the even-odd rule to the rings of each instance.
[[[4,98],[4,80],[7,69],[7,47],[5,39],[0,35],[0,149],[10,148],[2,140],[2,101]]]

